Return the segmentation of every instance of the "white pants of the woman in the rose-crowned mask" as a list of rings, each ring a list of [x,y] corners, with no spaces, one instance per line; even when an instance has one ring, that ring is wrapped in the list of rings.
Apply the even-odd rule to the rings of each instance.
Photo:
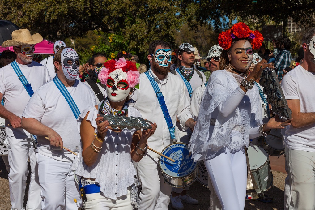
[[[132,210],[130,187],[127,195],[117,197],[117,200],[106,198],[102,193],[86,194],[86,210]]]

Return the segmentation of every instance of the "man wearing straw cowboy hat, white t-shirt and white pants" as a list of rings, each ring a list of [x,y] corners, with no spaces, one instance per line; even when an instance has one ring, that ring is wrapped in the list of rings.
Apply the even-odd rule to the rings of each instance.
[[[24,209],[23,201],[28,174],[28,159],[31,164],[26,209],[41,208],[41,192],[38,183],[36,152],[31,144],[31,134],[21,127],[21,116],[27,102],[37,88],[50,80],[47,68],[32,61],[35,44],[40,43],[40,34],[31,35],[27,29],[12,32],[12,39],[3,42],[2,47],[12,47],[16,60],[0,69],[0,116],[5,119],[9,141],[9,187],[11,209]]]

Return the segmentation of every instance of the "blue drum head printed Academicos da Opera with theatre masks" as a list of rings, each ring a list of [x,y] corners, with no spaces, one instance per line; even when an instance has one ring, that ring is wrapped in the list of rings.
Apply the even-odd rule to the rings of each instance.
[[[191,156],[189,156],[189,149],[186,143],[170,144],[161,153],[175,160],[173,162],[162,156],[159,160],[161,171],[170,177],[186,177],[197,168],[197,162],[194,162]]]

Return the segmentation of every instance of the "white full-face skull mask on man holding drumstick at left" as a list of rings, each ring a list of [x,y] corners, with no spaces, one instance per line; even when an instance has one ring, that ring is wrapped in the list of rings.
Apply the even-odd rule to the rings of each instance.
[[[75,80],[79,73],[80,66],[77,52],[68,47],[63,49],[61,52],[61,66],[66,78],[69,80]]]

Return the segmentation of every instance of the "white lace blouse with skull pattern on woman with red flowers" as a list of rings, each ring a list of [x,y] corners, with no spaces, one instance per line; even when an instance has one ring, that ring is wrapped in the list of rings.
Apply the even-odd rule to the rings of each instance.
[[[244,152],[249,138],[260,136],[262,122],[258,88],[246,93],[239,87],[244,79],[217,70],[211,74],[201,102],[197,124],[190,138],[194,161],[207,160],[226,152]],[[210,119],[216,119],[210,125]]]

